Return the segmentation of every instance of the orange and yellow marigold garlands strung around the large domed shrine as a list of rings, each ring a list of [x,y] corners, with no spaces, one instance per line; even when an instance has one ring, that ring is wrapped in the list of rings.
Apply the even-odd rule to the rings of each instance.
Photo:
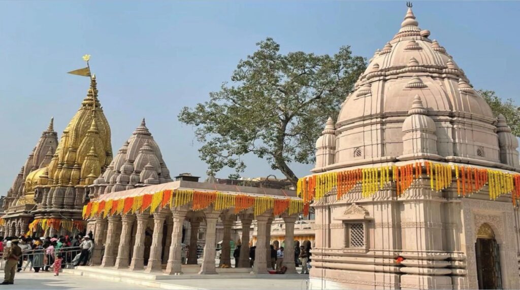
[[[296,194],[308,204],[335,188],[336,199],[340,200],[360,184],[362,197],[370,197],[386,186],[395,186],[396,195],[400,196],[415,180],[424,178],[430,179],[430,187],[435,191],[452,186],[454,178],[458,196],[462,197],[479,192],[486,185],[491,200],[511,194],[513,204],[517,205],[520,197],[520,174],[431,161],[315,174],[298,180]]]

